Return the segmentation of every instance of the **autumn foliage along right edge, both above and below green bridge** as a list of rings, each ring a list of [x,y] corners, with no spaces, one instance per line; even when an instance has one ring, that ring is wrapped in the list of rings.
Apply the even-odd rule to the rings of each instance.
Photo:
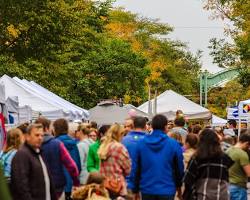
[[[214,62],[221,67],[240,68],[238,79],[228,83],[225,88],[210,93],[209,108],[225,117],[223,109],[227,105],[250,98],[250,1],[207,0],[205,9],[212,11],[214,18],[230,21],[226,34],[231,36],[233,42],[225,42],[223,39],[212,39],[210,42]]]

